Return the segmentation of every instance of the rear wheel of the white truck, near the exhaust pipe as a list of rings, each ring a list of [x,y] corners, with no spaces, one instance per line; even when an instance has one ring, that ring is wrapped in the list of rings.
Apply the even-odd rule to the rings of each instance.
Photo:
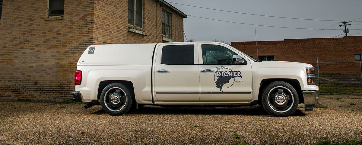
[[[110,115],[127,113],[132,105],[131,89],[121,83],[107,85],[101,93],[102,109]]]

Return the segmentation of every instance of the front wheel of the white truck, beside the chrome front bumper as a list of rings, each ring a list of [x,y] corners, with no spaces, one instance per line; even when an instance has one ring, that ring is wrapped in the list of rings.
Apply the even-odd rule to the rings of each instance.
[[[271,82],[262,91],[262,107],[270,115],[289,116],[295,112],[298,101],[298,93],[287,82]]]

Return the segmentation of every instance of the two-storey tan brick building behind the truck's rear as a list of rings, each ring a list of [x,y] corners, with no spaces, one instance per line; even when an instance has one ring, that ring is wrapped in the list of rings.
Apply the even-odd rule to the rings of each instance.
[[[164,0],[0,0],[0,96],[70,98],[89,45],[184,41]]]

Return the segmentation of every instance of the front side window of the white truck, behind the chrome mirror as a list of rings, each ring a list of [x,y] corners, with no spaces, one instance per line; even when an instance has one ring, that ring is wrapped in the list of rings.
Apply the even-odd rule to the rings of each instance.
[[[218,65],[218,64],[235,64],[232,62],[233,51],[220,45],[201,45],[203,64]]]

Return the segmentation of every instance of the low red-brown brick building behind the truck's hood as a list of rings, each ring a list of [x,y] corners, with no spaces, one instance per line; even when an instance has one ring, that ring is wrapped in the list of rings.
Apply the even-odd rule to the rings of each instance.
[[[361,73],[362,36],[258,41],[257,47],[255,41],[231,42],[231,45],[254,59],[264,61],[316,63],[318,57],[319,62],[355,62],[323,64],[320,73]],[[312,65],[317,68],[316,64]]]

